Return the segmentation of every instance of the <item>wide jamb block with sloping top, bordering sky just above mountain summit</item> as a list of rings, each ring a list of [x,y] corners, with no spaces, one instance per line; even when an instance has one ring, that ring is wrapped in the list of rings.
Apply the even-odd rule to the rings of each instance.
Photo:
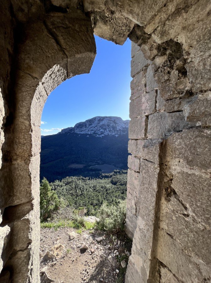
[[[130,102],[130,118],[149,115],[156,112],[156,91],[144,93]]]

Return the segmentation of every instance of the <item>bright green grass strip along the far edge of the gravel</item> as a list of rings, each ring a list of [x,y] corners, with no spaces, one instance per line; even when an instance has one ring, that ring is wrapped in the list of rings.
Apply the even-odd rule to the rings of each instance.
[[[58,230],[58,228],[75,228],[78,230],[91,230],[95,227],[95,223],[91,223],[88,221],[84,221],[84,223],[78,223],[75,220],[60,220],[55,222],[41,222],[41,228],[54,228],[54,230]],[[80,233],[81,234],[81,233]]]

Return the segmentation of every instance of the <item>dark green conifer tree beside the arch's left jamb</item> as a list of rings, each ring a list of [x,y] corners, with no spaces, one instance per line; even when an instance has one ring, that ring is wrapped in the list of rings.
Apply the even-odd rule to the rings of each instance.
[[[52,213],[59,209],[61,202],[55,191],[46,178],[43,178],[40,187],[40,219],[45,221],[51,217]]]

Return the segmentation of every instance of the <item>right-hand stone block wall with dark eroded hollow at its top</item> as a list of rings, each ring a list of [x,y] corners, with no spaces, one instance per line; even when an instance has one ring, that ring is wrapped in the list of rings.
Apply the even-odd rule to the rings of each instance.
[[[126,282],[207,282],[210,92],[192,91],[179,43],[154,47],[132,44]]]

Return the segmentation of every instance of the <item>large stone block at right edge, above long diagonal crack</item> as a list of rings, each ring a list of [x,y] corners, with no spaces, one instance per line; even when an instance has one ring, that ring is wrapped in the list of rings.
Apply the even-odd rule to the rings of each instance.
[[[172,187],[196,219],[211,227],[211,179],[180,171],[173,175]]]

